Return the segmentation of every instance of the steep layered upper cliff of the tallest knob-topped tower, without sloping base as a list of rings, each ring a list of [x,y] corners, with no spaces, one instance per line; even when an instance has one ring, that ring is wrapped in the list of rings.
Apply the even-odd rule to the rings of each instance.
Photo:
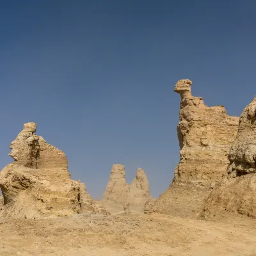
[[[223,106],[208,107],[200,97],[191,95],[191,81],[181,80],[175,86],[180,94],[180,163],[175,182],[210,186],[225,172],[227,154],[237,134],[239,118],[228,116]]]

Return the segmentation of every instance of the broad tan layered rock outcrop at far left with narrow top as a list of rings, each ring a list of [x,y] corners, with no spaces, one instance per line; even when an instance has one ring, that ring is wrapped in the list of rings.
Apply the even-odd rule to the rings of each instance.
[[[93,204],[83,183],[70,179],[65,154],[35,132],[35,123],[24,124],[10,145],[14,162],[0,172],[0,216],[47,218],[104,212]]]

